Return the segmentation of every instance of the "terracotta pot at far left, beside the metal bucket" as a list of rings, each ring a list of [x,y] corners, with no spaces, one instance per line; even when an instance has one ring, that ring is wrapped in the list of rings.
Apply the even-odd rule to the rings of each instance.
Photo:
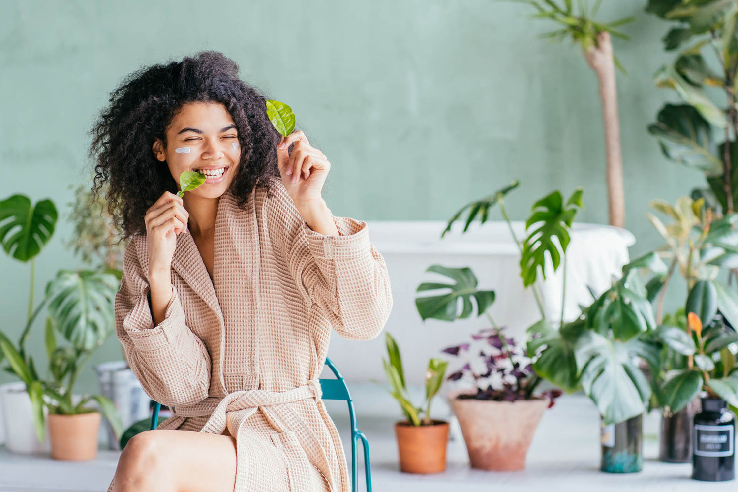
[[[51,457],[55,460],[94,460],[97,457],[97,433],[100,413],[79,415],[49,414]]]

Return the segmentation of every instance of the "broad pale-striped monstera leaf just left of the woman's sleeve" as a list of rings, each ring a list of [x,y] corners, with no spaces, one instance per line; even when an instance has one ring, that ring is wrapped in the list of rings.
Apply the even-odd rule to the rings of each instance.
[[[78,350],[92,350],[114,331],[113,303],[120,282],[114,274],[60,270],[46,284],[49,314]]]

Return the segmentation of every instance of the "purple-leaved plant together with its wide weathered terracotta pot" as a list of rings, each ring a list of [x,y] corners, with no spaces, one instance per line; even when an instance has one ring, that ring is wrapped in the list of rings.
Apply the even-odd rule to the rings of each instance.
[[[531,360],[503,328],[483,328],[472,334],[471,342],[448,347],[444,353],[464,362],[449,381],[473,387],[449,394],[472,468],[523,470],[539,420],[561,390],[534,395],[539,379]]]

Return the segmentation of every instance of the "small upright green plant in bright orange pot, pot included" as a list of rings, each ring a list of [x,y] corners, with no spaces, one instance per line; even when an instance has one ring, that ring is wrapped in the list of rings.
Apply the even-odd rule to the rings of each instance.
[[[387,358],[382,358],[390,395],[399,403],[406,420],[395,423],[395,435],[400,456],[400,471],[413,474],[435,474],[446,469],[446,442],[449,424],[430,417],[430,405],[441,388],[448,363],[431,358],[425,373],[425,399],[415,406],[405,384],[400,349],[390,333],[385,334]]]

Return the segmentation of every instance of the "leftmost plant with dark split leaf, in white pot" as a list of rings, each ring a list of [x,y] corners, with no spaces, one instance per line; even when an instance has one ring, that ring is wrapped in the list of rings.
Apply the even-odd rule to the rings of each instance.
[[[35,257],[51,239],[57,221],[57,211],[51,200],[32,204],[25,195],[13,195],[0,201],[0,243],[15,260],[30,264],[30,289],[27,322],[17,344],[0,330],[0,346],[13,349],[24,363],[26,371],[18,372],[13,364],[4,364],[4,370],[14,373],[20,383],[0,387],[0,409],[3,415],[4,434],[8,450],[16,453],[35,453],[49,450],[44,440],[45,419],[41,378],[33,358],[26,353],[25,345],[30,328],[44,302],[34,308]],[[0,350],[2,363],[6,350]]]

